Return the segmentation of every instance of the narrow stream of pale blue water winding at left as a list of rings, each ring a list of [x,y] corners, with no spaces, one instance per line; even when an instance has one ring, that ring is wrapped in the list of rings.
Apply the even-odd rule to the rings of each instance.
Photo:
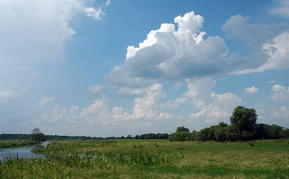
[[[35,147],[46,147],[50,142],[42,142],[40,144],[36,144]],[[13,148],[13,149],[0,149],[0,160],[2,160],[5,156],[17,156],[24,157],[24,158],[33,158],[33,157],[40,157],[41,154],[34,154],[31,152],[33,147],[21,147],[21,148]]]

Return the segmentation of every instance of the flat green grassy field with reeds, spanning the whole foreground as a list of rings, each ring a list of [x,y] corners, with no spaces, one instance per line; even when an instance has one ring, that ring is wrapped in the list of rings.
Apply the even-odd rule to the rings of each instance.
[[[6,158],[0,179],[289,179],[289,140],[51,142],[42,158]]]

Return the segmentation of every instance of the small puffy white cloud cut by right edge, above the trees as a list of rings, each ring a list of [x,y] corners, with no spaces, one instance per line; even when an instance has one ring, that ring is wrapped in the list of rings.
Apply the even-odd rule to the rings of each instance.
[[[282,85],[274,85],[271,89],[273,91],[273,95],[271,98],[275,102],[288,102],[289,101],[289,88],[286,89],[286,87]]]

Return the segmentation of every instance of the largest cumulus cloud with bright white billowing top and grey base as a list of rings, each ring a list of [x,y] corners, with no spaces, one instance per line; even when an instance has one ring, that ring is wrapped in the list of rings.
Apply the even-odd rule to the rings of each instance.
[[[143,88],[157,83],[183,81],[233,71],[228,68],[224,39],[201,32],[203,17],[188,12],[151,30],[139,47],[129,46],[124,64],[104,77],[107,85]]]

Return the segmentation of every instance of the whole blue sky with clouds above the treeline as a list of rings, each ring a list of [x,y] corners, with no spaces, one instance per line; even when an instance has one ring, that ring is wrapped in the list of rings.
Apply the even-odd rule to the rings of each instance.
[[[289,127],[289,0],[0,0],[0,133]]]

